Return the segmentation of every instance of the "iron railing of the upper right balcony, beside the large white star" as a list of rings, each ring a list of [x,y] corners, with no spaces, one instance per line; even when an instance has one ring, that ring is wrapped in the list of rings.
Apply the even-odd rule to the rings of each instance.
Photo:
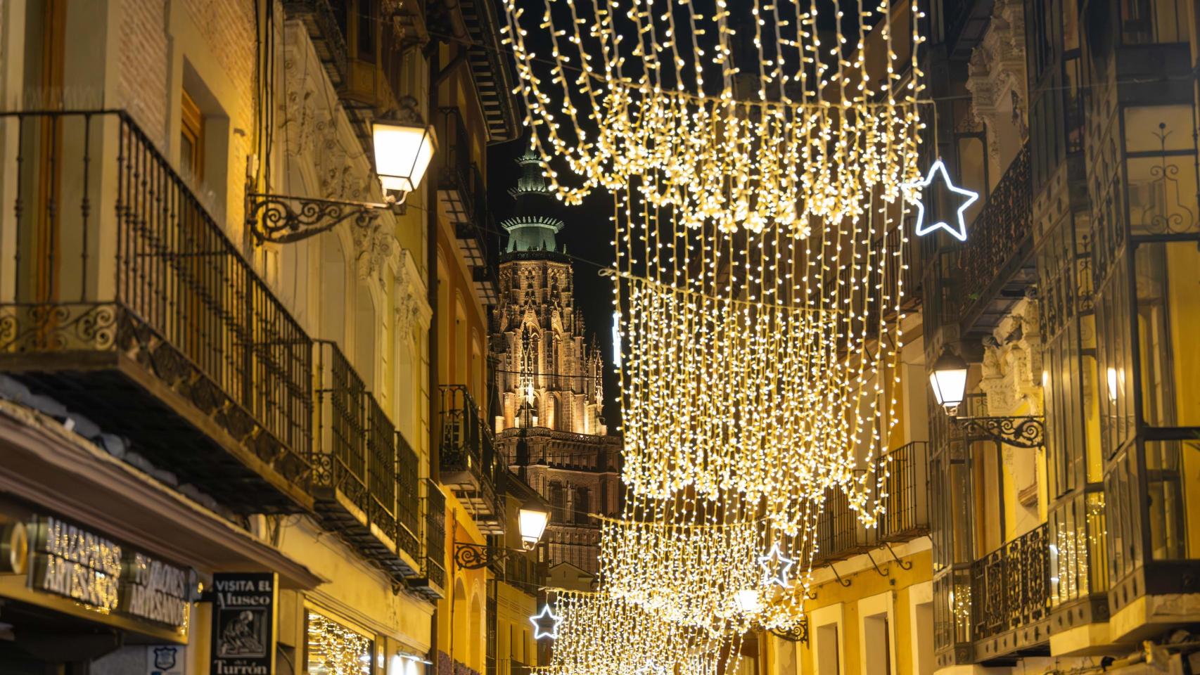
[[[997,284],[1004,284],[1032,251],[1033,188],[1030,182],[1030,146],[1008,165],[979,215],[967,229],[954,284],[959,318],[968,317],[978,302],[988,302]]]

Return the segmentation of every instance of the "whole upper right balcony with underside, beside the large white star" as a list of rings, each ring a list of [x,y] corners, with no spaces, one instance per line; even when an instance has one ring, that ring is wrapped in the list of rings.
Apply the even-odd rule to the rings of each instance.
[[[966,332],[990,332],[1037,283],[1030,146],[1016,155],[967,229],[954,264],[952,307]]]

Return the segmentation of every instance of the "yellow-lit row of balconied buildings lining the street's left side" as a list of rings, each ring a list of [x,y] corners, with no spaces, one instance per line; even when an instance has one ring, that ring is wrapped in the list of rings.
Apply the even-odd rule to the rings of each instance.
[[[452,553],[508,528],[468,433],[499,40],[472,2],[0,4],[0,671],[485,670],[494,572]],[[437,139],[402,206],[382,119]]]

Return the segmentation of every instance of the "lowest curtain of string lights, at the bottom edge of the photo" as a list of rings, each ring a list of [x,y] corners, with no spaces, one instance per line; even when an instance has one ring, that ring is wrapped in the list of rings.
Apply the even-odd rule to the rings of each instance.
[[[671,625],[607,592],[553,590],[558,626],[548,675],[721,675],[740,637]]]

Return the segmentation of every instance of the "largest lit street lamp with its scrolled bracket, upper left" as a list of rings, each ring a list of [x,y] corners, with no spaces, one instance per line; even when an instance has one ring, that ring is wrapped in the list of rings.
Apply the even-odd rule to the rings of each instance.
[[[376,175],[384,192],[382,203],[318,199],[246,191],[246,223],[259,242],[287,243],[353,219],[371,228],[383,211],[402,212],[408,193],[415,191],[437,152],[437,133],[416,110],[416,100],[406,97],[400,110],[371,122]]]

